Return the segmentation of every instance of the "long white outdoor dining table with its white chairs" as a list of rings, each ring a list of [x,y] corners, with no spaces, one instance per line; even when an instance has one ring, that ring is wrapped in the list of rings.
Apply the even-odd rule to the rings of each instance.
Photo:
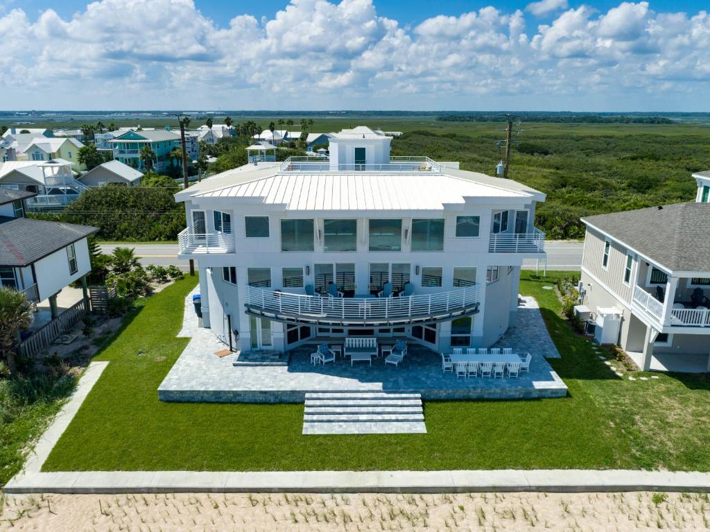
[[[469,347],[465,353],[463,348],[457,347],[452,349],[451,354],[442,353],[442,371],[455,372],[457,377],[503,379],[508,376],[518,379],[521,371],[530,371],[531,359],[530,353],[521,359],[509,347],[503,348],[502,352],[498,347]]]

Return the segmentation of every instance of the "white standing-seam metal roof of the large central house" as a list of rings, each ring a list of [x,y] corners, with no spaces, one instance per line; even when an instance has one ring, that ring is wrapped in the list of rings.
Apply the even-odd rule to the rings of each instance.
[[[294,174],[198,192],[195,197],[260,197],[287,210],[442,210],[465,197],[530,197],[450,175]]]

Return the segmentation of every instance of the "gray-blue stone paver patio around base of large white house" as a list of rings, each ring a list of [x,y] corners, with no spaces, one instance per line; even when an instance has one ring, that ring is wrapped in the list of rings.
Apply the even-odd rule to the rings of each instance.
[[[386,365],[382,358],[374,359],[372,366],[356,363],[351,367],[350,361],[344,359],[313,366],[312,345],[293,349],[288,366],[235,367],[236,354],[215,356],[224,344],[211,330],[197,327],[190,305],[188,295],[181,335],[190,335],[192,340],[158,388],[163,401],[301,403],[305,393],[312,391],[419,392],[424,399],[542,398],[567,394],[567,386],[545,360],[546,356],[559,357],[559,353],[540,311],[530,300],[525,300],[520,308],[516,326],[497,344],[532,355],[530,373],[520,374],[519,379],[466,379],[444,374],[439,354],[413,342],[398,367]]]

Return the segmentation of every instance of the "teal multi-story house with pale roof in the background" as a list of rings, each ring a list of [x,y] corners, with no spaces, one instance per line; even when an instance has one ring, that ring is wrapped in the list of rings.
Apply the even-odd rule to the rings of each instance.
[[[109,144],[114,148],[114,159],[141,171],[146,170],[146,163],[141,161],[141,148],[151,146],[156,158],[153,168],[156,172],[163,172],[170,165],[170,152],[180,146],[180,134],[166,129],[129,130],[109,141]]]

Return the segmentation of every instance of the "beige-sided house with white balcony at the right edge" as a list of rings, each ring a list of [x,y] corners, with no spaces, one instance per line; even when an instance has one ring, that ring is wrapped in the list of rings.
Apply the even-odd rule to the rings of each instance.
[[[644,370],[710,370],[710,205],[696,178],[698,202],[582,218],[582,303],[611,327],[597,337]]]

